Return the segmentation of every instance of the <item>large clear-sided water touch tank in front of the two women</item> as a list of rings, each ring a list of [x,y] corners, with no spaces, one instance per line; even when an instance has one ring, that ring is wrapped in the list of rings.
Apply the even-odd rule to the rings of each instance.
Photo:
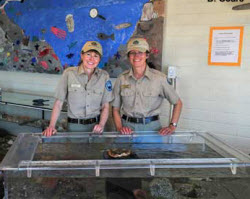
[[[111,157],[118,149],[125,156]],[[20,133],[0,165],[6,199],[247,199],[249,168],[248,155],[203,132]]]

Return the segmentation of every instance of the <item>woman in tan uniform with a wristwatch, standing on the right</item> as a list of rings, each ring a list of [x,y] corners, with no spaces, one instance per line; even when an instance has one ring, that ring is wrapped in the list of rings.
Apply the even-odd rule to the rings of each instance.
[[[164,73],[147,65],[149,45],[144,38],[130,39],[127,53],[132,68],[117,78],[113,91],[117,130],[122,134],[133,131],[159,131],[161,135],[173,133],[182,108],[179,96],[168,84]],[[166,127],[162,127],[159,121],[164,99],[174,105],[173,116]]]

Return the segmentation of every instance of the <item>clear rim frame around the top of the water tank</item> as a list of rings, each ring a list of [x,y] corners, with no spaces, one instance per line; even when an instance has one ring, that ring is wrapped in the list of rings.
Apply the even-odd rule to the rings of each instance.
[[[159,139],[164,144],[199,144],[202,150],[210,147],[221,157],[215,158],[161,158],[161,159],[91,159],[91,160],[34,160],[38,145],[43,143],[126,143],[129,145],[147,143],[154,146]],[[150,141],[153,140],[153,141]],[[146,146],[146,145],[145,145]],[[149,149],[150,150],[150,149]],[[250,157],[230,147],[212,133],[178,131],[170,136],[157,132],[140,132],[120,135],[105,132],[60,133],[52,137],[41,134],[20,133],[6,154],[0,170],[4,175],[67,176],[67,177],[249,177]]]

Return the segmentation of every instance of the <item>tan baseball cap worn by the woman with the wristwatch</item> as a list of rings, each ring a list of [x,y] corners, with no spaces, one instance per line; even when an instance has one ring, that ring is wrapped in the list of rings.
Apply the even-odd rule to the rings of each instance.
[[[129,53],[131,50],[138,50],[140,52],[149,51],[149,45],[147,40],[144,38],[130,39],[127,44],[127,53]]]

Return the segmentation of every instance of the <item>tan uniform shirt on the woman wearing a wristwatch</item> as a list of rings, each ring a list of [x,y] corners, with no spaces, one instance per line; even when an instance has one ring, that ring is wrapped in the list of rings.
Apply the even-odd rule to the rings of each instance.
[[[121,107],[130,117],[159,115],[163,99],[176,104],[179,96],[160,71],[147,66],[145,74],[137,80],[132,69],[123,72],[116,80],[113,90],[113,107]]]

